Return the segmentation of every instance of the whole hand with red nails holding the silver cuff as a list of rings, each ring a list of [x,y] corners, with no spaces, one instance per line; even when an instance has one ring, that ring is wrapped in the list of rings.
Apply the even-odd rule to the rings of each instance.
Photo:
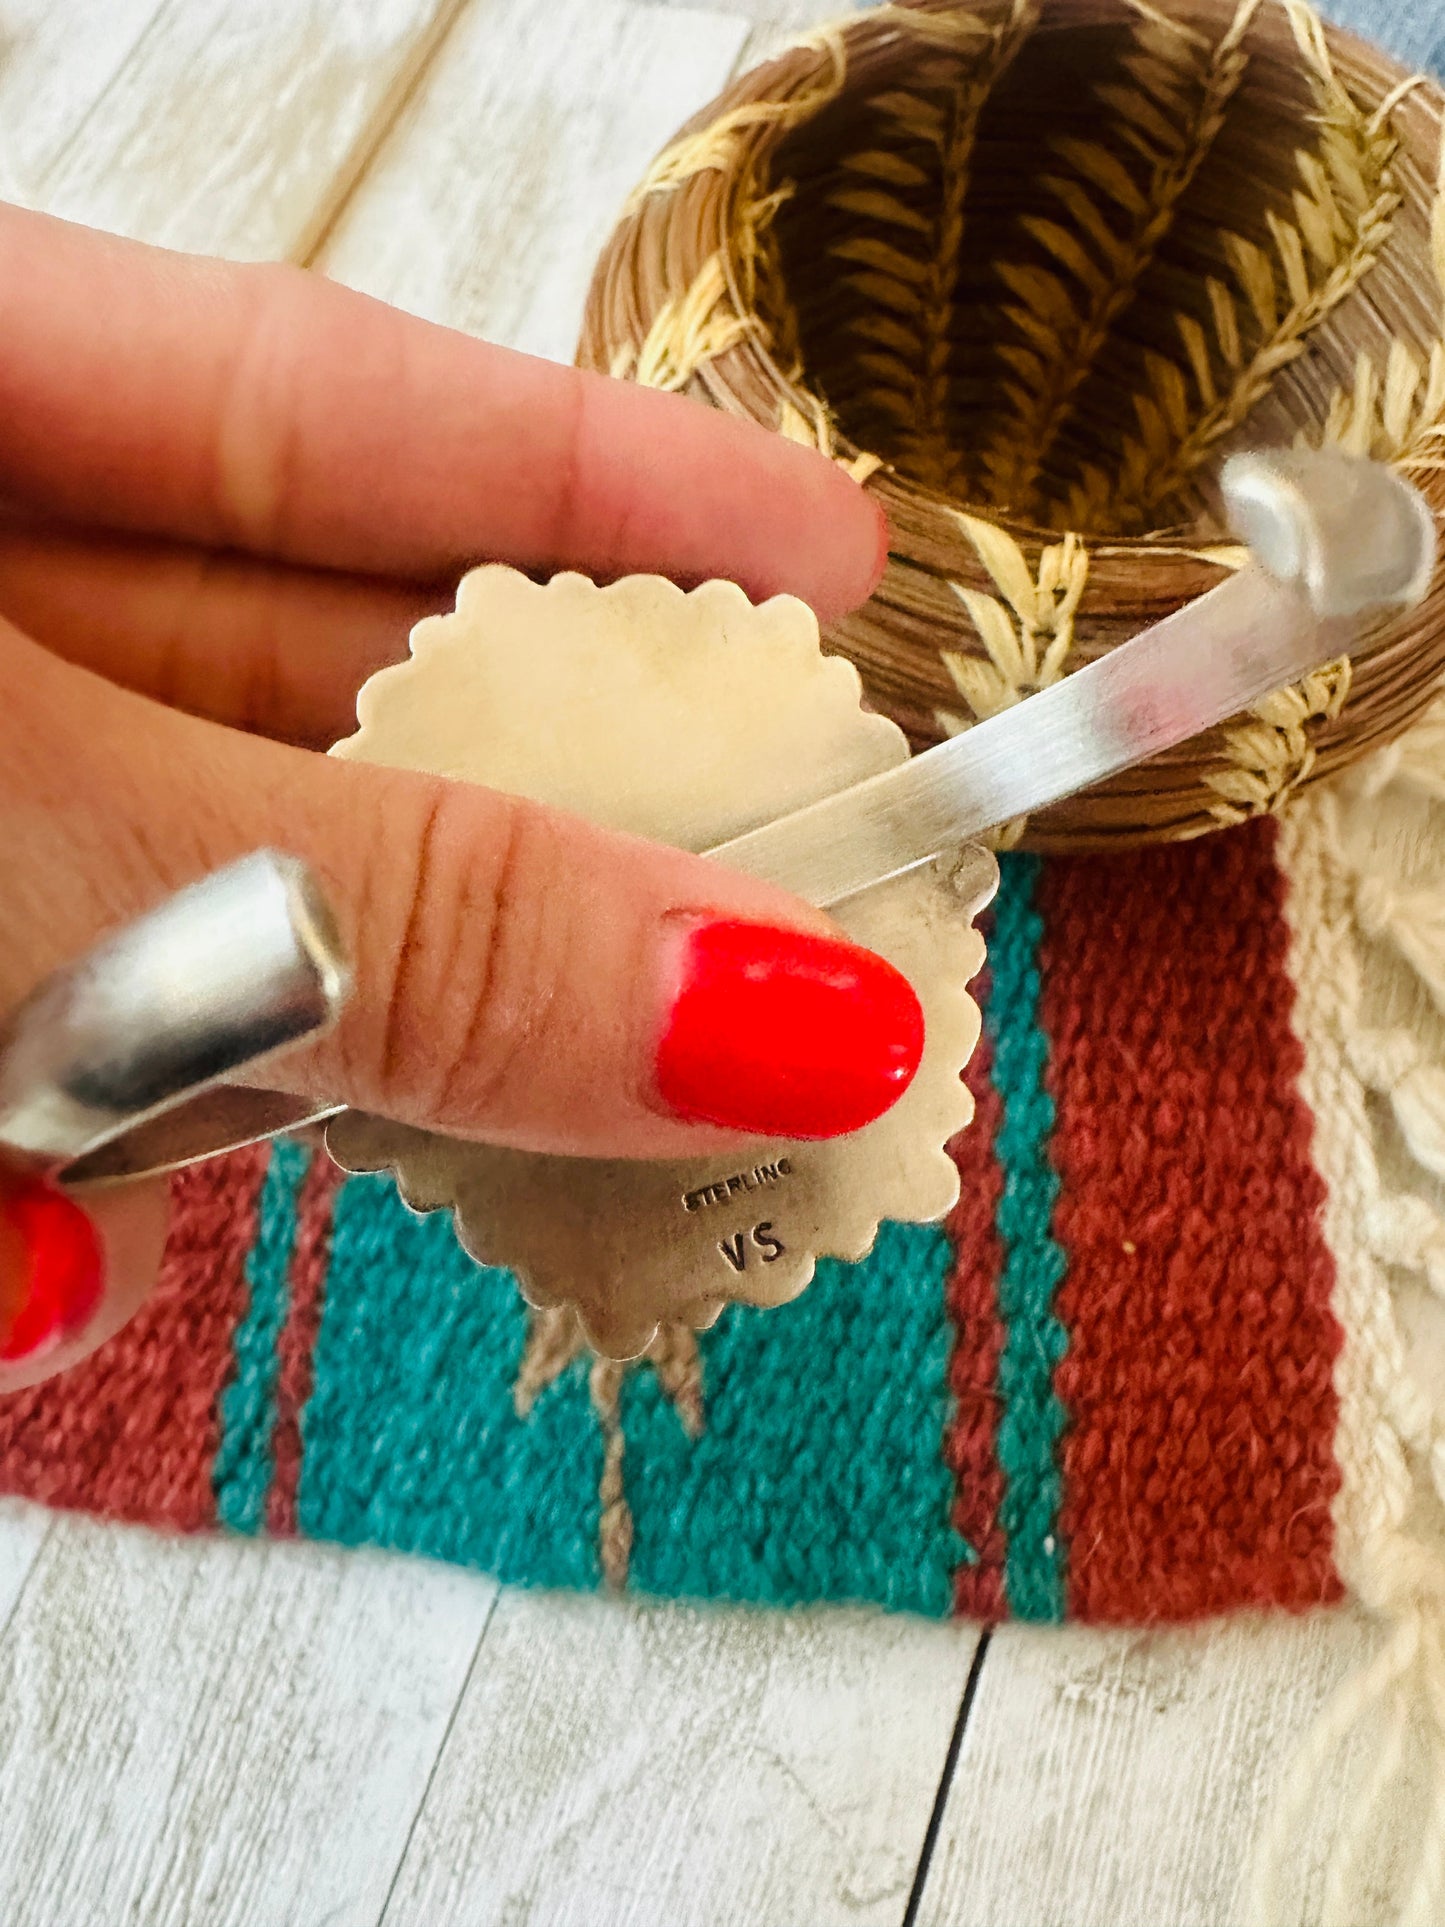
[[[0,343],[0,1014],[270,844],[318,871],[358,990],[268,1083],[615,1156],[827,1137],[902,1093],[907,985],[807,906],[316,753],[480,559],[842,613],[886,530],[832,462],[297,270],[10,208]],[[87,1245],[66,1201],[0,1179],[0,1389],[92,1349],[154,1280],[166,1187],[91,1208]]]

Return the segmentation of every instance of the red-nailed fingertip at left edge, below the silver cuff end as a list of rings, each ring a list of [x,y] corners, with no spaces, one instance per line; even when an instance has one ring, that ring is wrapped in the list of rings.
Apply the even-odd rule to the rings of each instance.
[[[0,1393],[69,1370],[139,1310],[160,1274],[170,1187],[85,1201],[0,1172]]]

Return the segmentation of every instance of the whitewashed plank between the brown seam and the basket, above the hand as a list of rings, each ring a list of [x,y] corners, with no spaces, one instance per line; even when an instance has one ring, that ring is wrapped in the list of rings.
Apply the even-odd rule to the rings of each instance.
[[[316,266],[428,320],[570,360],[591,266],[746,21],[620,0],[459,19]]]

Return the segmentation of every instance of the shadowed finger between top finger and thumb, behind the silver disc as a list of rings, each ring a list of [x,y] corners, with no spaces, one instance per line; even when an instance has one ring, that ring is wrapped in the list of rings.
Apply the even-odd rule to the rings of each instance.
[[[181,543],[0,530],[0,615],[81,669],[189,715],[326,748],[356,690],[453,592]]]

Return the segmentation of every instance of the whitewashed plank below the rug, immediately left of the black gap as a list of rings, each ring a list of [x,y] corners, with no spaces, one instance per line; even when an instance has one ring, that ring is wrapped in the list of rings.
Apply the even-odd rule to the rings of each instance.
[[[973,1648],[505,1594],[385,1927],[898,1927]]]

